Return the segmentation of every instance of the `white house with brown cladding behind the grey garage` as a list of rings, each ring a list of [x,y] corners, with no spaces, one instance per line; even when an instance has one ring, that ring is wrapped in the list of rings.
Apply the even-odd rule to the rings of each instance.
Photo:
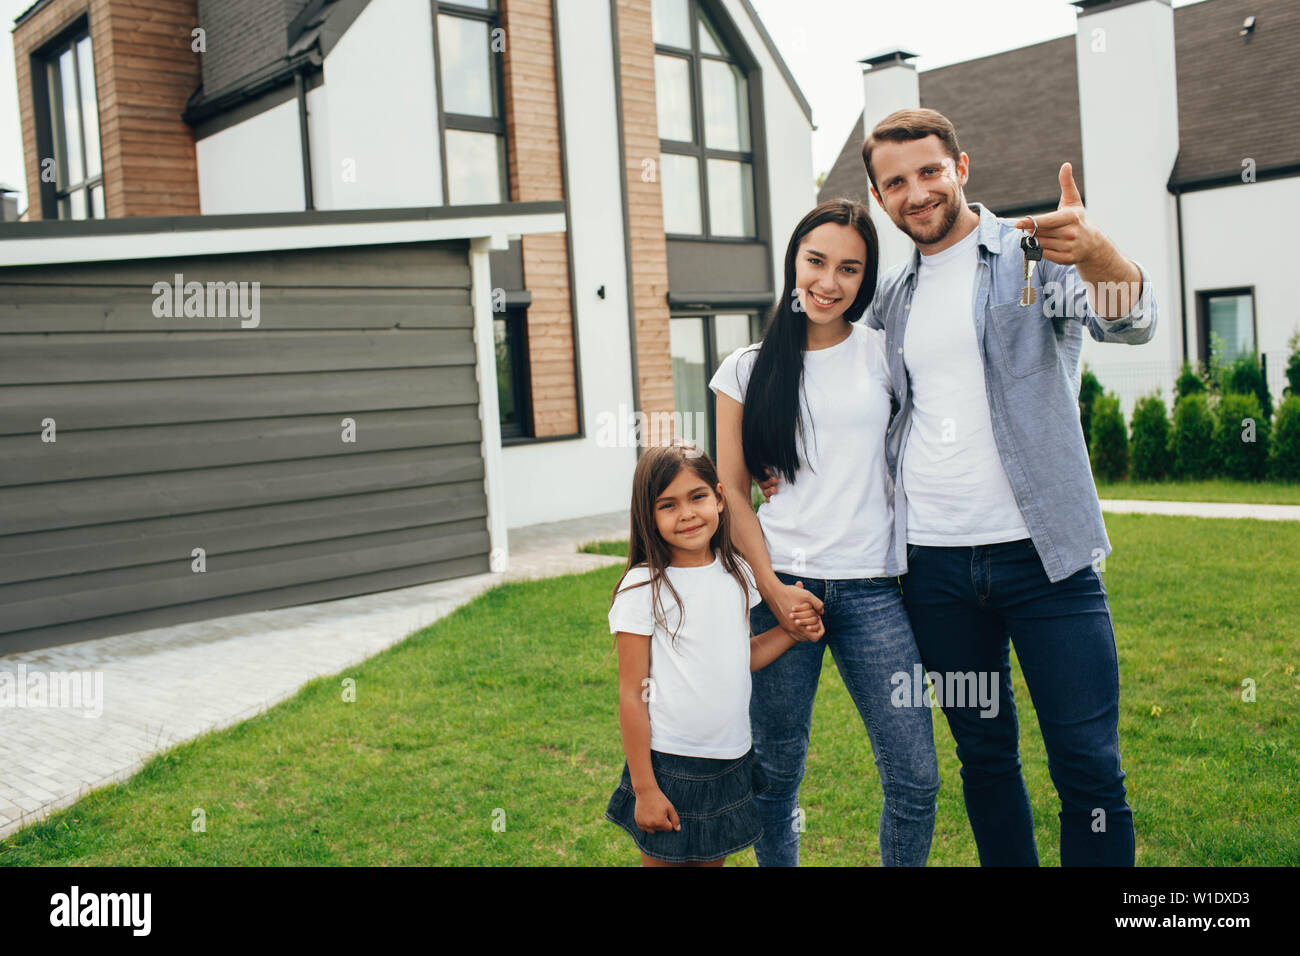
[[[563,202],[491,261],[511,527],[627,507],[636,412],[711,447],[815,203],[748,0],[40,0],[14,49],[31,219]]]

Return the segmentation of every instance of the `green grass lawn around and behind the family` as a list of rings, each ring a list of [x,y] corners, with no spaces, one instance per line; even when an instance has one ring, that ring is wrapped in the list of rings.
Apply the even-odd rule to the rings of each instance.
[[[1300,865],[1300,523],[1108,527],[1139,864]],[[0,864],[632,865],[630,840],[603,819],[623,763],[606,627],[618,576],[499,587],[9,836]],[[1019,679],[1015,691],[1039,851],[1057,864],[1057,801]],[[931,864],[974,865],[941,715],[935,739]],[[806,865],[879,864],[871,748],[829,656],[802,804]],[[195,808],[205,832],[191,830]],[[732,862],[753,865],[753,851]]]

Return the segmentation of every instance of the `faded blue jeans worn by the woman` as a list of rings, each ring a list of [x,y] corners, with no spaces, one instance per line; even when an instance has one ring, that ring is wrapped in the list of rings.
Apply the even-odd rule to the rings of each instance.
[[[892,679],[913,674],[920,656],[911,636],[897,578],[822,580],[777,571],[785,584],[803,581],[823,602],[826,635],[803,641],[754,671],[749,719],[754,753],[768,780],[755,797],[763,836],[754,844],[759,866],[798,866],[800,782],[812,730],[812,698],[822,656],[831,649],[875,752],[884,808],[880,861],[885,866],[924,866],[935,831],[939,762],[927,706],[896,706]],[[766,604],[750,611],[754,633],[776,626]],[[815,823],[814,823],[815,825]]]

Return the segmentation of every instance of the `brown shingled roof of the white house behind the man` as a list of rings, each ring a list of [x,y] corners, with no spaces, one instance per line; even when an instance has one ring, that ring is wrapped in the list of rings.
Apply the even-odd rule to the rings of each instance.
[[[1256,29],[1242,38],[1249,16]],[[1173,185],[1235,179],[1247,157],[1260,170],[1300,163],[1300,98],[1283,81],[1294,74],[1297,49],[1295,0],[1205,0],[1174,10],[1180,143]],[[1019,75],[1034,78],[1028,100],[1008,82]],[[1056,206],[1065,161],[1087,198],[1072,35],[926,70],[919,79],[920,105],[952,120],[970,153],[972,202],[998,215]],[[859,116],[818,199],[867,200],[864,135]]]

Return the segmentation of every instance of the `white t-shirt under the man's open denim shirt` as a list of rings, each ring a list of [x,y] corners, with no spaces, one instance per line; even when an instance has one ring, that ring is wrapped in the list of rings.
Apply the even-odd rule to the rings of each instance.
[[[913,416],[902,455],[907,541],[957,548],[1028,537],[993,440],[975,341],[979,230],[920,258],[904,362]]]

